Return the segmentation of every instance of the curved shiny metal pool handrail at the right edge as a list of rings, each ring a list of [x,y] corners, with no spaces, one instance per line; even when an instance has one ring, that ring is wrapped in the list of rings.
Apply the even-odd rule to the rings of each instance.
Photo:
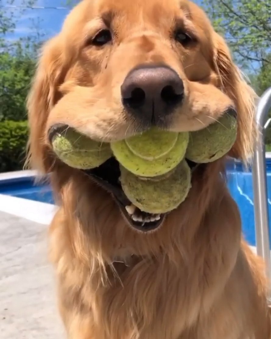
[[[255,144],[253,159],[254,218],[257,254],[262,256],[266,265],[269,281],[268,299],[271,299],[271,258],[269,243],[269,214],[266,180],[266,158],[264,143],[264,126],[271,108],[271,87],[259,99],[256,111],[256,125],[259,132]]]

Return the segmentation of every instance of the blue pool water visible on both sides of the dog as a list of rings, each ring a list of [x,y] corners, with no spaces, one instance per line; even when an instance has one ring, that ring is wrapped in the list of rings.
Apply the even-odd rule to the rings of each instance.
[[[241,164],[231,162],[227,167],[227,178],[229,190],[240,209],[245,239],[250,245],[255,246],[252,174],[250,171],[245,172]],[[267,186],[269,215],[271,215],[271,159],[267,159]],[[35,185],[33,177],[0,181],[0,193],[54,203],[50,185]]]

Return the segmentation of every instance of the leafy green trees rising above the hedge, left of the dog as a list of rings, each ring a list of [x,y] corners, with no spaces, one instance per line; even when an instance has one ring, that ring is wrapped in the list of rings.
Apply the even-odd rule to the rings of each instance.
[[[6,5],[0,7],[0,121],[26,119],[25,100],[41,36],[37,27],[33,29],[34,34],[23,39],[11,41],[6,35],[14,32],[24,7],[31,7],[35,2],[22,0],[16,12],[8,7],[14,4],[14,0],[7,0]]]

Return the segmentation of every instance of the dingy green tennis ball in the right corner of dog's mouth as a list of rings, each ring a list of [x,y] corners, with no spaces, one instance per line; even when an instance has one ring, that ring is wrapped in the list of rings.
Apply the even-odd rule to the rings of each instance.
[[[186,158],[197,163],[215,161],[230,151],[236,135],[236,118],[225,114],[208,127],[190,133]]]

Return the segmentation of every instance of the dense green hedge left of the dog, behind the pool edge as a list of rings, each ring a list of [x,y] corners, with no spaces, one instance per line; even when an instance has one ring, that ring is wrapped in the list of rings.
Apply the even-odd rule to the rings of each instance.
[[[27,136],[27,121],[0,122],[0,172],[23,168]]]

